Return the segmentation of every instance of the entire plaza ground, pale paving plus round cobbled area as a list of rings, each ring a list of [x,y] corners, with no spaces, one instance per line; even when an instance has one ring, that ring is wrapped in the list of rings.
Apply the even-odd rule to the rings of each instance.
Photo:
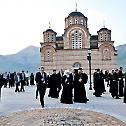
[[[62,104],[60,98],[45,96],[45,108],[35,99],[36,86],[25,86],[25,92],[2,88],[0,126],[126,126],[126,104],[107,92],[95,97],[88,90],[89,102]]]

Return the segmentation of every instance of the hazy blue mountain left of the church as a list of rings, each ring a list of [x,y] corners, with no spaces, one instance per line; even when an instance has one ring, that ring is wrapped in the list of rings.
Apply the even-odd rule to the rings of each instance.
[[[0,71],[29,71],[36,72],[40,67],[40,49],[28,46],[20,52],[12,55],[0,55]]]

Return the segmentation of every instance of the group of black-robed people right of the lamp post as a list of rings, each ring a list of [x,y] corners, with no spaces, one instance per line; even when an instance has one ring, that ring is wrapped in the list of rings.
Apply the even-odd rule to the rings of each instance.
[[[111,72],[96,69],[93,75],[94,79],[94,90],[93,93],[96,97],[100,97],[102,93],[106,92],[105,82],[107,87],[109,87],[109,92],[111,96],[116,99],[124,96],[125,91],[125,78],[126,75],[122,72],[122,67],[120,69],[112,70]],[[105,81],[104,81],[105,80]]]

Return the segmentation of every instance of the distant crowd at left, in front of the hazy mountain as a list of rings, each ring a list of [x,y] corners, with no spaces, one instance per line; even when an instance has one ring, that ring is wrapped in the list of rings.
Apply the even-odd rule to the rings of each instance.
[[[12,88],[15,87],[15,92],[24,92],[24,86],[35,85],[34,84],[34,74],[29,74],[22,72],[4,72],[0,74],[0,98],[1,98],[1,88]]]

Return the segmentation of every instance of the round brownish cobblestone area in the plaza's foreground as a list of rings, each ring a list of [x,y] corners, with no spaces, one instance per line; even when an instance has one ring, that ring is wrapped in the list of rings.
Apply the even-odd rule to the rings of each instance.
[[[0,119],[1,126],[126,126],[120,120],[98,112],[79,109],[36,109]]]

